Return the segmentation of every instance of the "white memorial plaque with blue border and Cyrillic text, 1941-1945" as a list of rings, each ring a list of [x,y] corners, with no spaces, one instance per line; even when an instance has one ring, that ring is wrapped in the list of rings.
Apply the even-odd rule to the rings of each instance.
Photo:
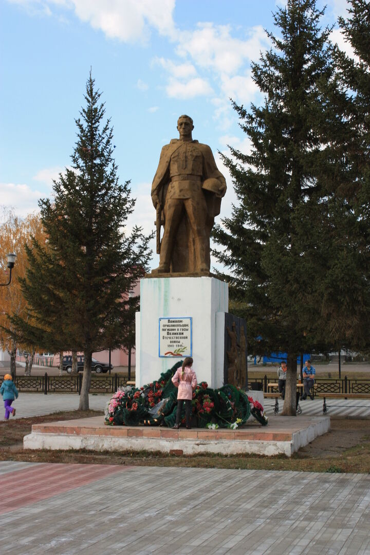
[[[159,356],[191,356],[191,317],[159,319]]]

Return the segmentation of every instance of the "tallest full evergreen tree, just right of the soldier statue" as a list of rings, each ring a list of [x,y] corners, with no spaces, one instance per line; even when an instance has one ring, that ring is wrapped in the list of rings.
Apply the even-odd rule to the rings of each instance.
[[[320,28],[322,16],[315,0],[288,0],[274,15],[273,47],[252,64],[264,103],[250,111],[234,103],[251,151],[230,147],[224,158],[240,204],[214,233],[249,344],[260,354],[287,352],[283,415],[296,413],[297,355],[330,345],[322,281],[336,237],[331,214],[344,218],[330,205],[344,171],[333,163],[333,144],[345,127],[331,102],[331,29]]]

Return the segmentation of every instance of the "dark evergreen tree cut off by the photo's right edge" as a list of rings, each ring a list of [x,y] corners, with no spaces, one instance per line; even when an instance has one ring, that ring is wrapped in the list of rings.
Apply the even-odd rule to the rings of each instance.
[[[353,297],[357,302],[353,318],[347,322],[347,334],[353,349],[370,350],[370,4],[366,0],[348,2],[348,18],[339,18],[344,38],[353,49],[347,56],[338,47],[334,50],[337,80],[345,94],[338,111],[346,123],[346,140],[341,157],[346,171],[338,197],[349,206],[352,214],[351,244],[357,237],[356,250],[362,274],[352,279]],[[339,147],[339,145],[338,145]],[[358,273],[358,271],[357,271]]]

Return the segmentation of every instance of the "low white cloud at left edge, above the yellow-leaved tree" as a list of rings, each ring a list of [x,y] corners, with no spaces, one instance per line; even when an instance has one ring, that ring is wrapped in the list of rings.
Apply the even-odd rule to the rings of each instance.
[[[0,183],[1,204],[13,208],[17,216],[27,216],[38,210],[38,200],[45,196],[42,191],[32,190],[26,184]]]

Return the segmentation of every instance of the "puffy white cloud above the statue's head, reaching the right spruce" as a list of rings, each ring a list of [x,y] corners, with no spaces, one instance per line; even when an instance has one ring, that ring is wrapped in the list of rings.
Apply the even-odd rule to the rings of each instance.
[[[247,104],[255,97],[258,89],[248,65],[270,44],[262,27],[251,28],[247,37],[240,39],[232,36],[230,26],[199,23],[194,31],[179,31],[176,42],[175,52],[184,60],[182,63],[166,58],[153,60],[169,74],[165,87],[169,97],[186,99],[213,95],[219,88],[228,108],[217,108],[217,120],[221,112],[230,113],[229,98]],[[230,116],[223,119],[221,127],[226,129],[230,120]]]

